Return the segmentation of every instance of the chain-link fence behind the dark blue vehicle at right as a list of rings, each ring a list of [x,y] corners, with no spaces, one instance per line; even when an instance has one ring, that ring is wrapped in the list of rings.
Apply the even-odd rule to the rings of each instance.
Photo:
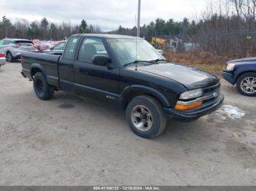
[[[237,33],[159,36],[165,50],[173,52],[203,51],[217,55],[245,57],[256,55],[256,31]]]

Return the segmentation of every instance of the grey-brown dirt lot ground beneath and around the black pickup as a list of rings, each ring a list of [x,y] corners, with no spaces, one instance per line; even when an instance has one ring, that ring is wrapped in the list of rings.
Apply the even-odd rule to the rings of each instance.
[[[169,120],[154,140],[100,101],[62,92],[39,101],[20,63],[0,69],[0,87],[1,185],[256,184],[256,98],[225,82],[219,112]]]

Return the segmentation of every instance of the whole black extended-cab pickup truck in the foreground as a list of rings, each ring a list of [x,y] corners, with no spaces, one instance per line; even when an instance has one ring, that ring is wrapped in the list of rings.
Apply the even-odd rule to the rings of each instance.
[[[23,52],[21,60],[21,74],[34,81],[38,98],[64,90],[108,101],[121,106],[129,127],[145,138],[162,133],[167,116],[197,120],[224,100],[213,74],[170,63],[133,36],[73,35],[63,55]]]

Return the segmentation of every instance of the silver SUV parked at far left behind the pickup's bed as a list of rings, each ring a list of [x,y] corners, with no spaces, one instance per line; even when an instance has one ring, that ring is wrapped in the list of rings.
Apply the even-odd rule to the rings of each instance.
[[[7,61],[12,62],[20,59],[20,52],[34,52],[37,49],[33,42],[27,39],[2,39],[0,40],[0,51],[3,51]]]

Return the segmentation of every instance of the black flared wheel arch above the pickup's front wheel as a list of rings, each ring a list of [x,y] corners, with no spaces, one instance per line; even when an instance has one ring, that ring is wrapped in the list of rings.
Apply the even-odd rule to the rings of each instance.
[[[152,98],[155,98],[157,101],[159,101],[159,104],[162,106],[170,106],[169,101],[167,101],[167,98],[165,98],[165,95],[162,95],[162,93],[159,93],[159,91],[154,90],[151,87],[136,86],[127,87],[127,89],[121,93],[121,106],[123,109],[127,109],[129,102],[132,101],[133,98],[140,95],[151,96]]]

